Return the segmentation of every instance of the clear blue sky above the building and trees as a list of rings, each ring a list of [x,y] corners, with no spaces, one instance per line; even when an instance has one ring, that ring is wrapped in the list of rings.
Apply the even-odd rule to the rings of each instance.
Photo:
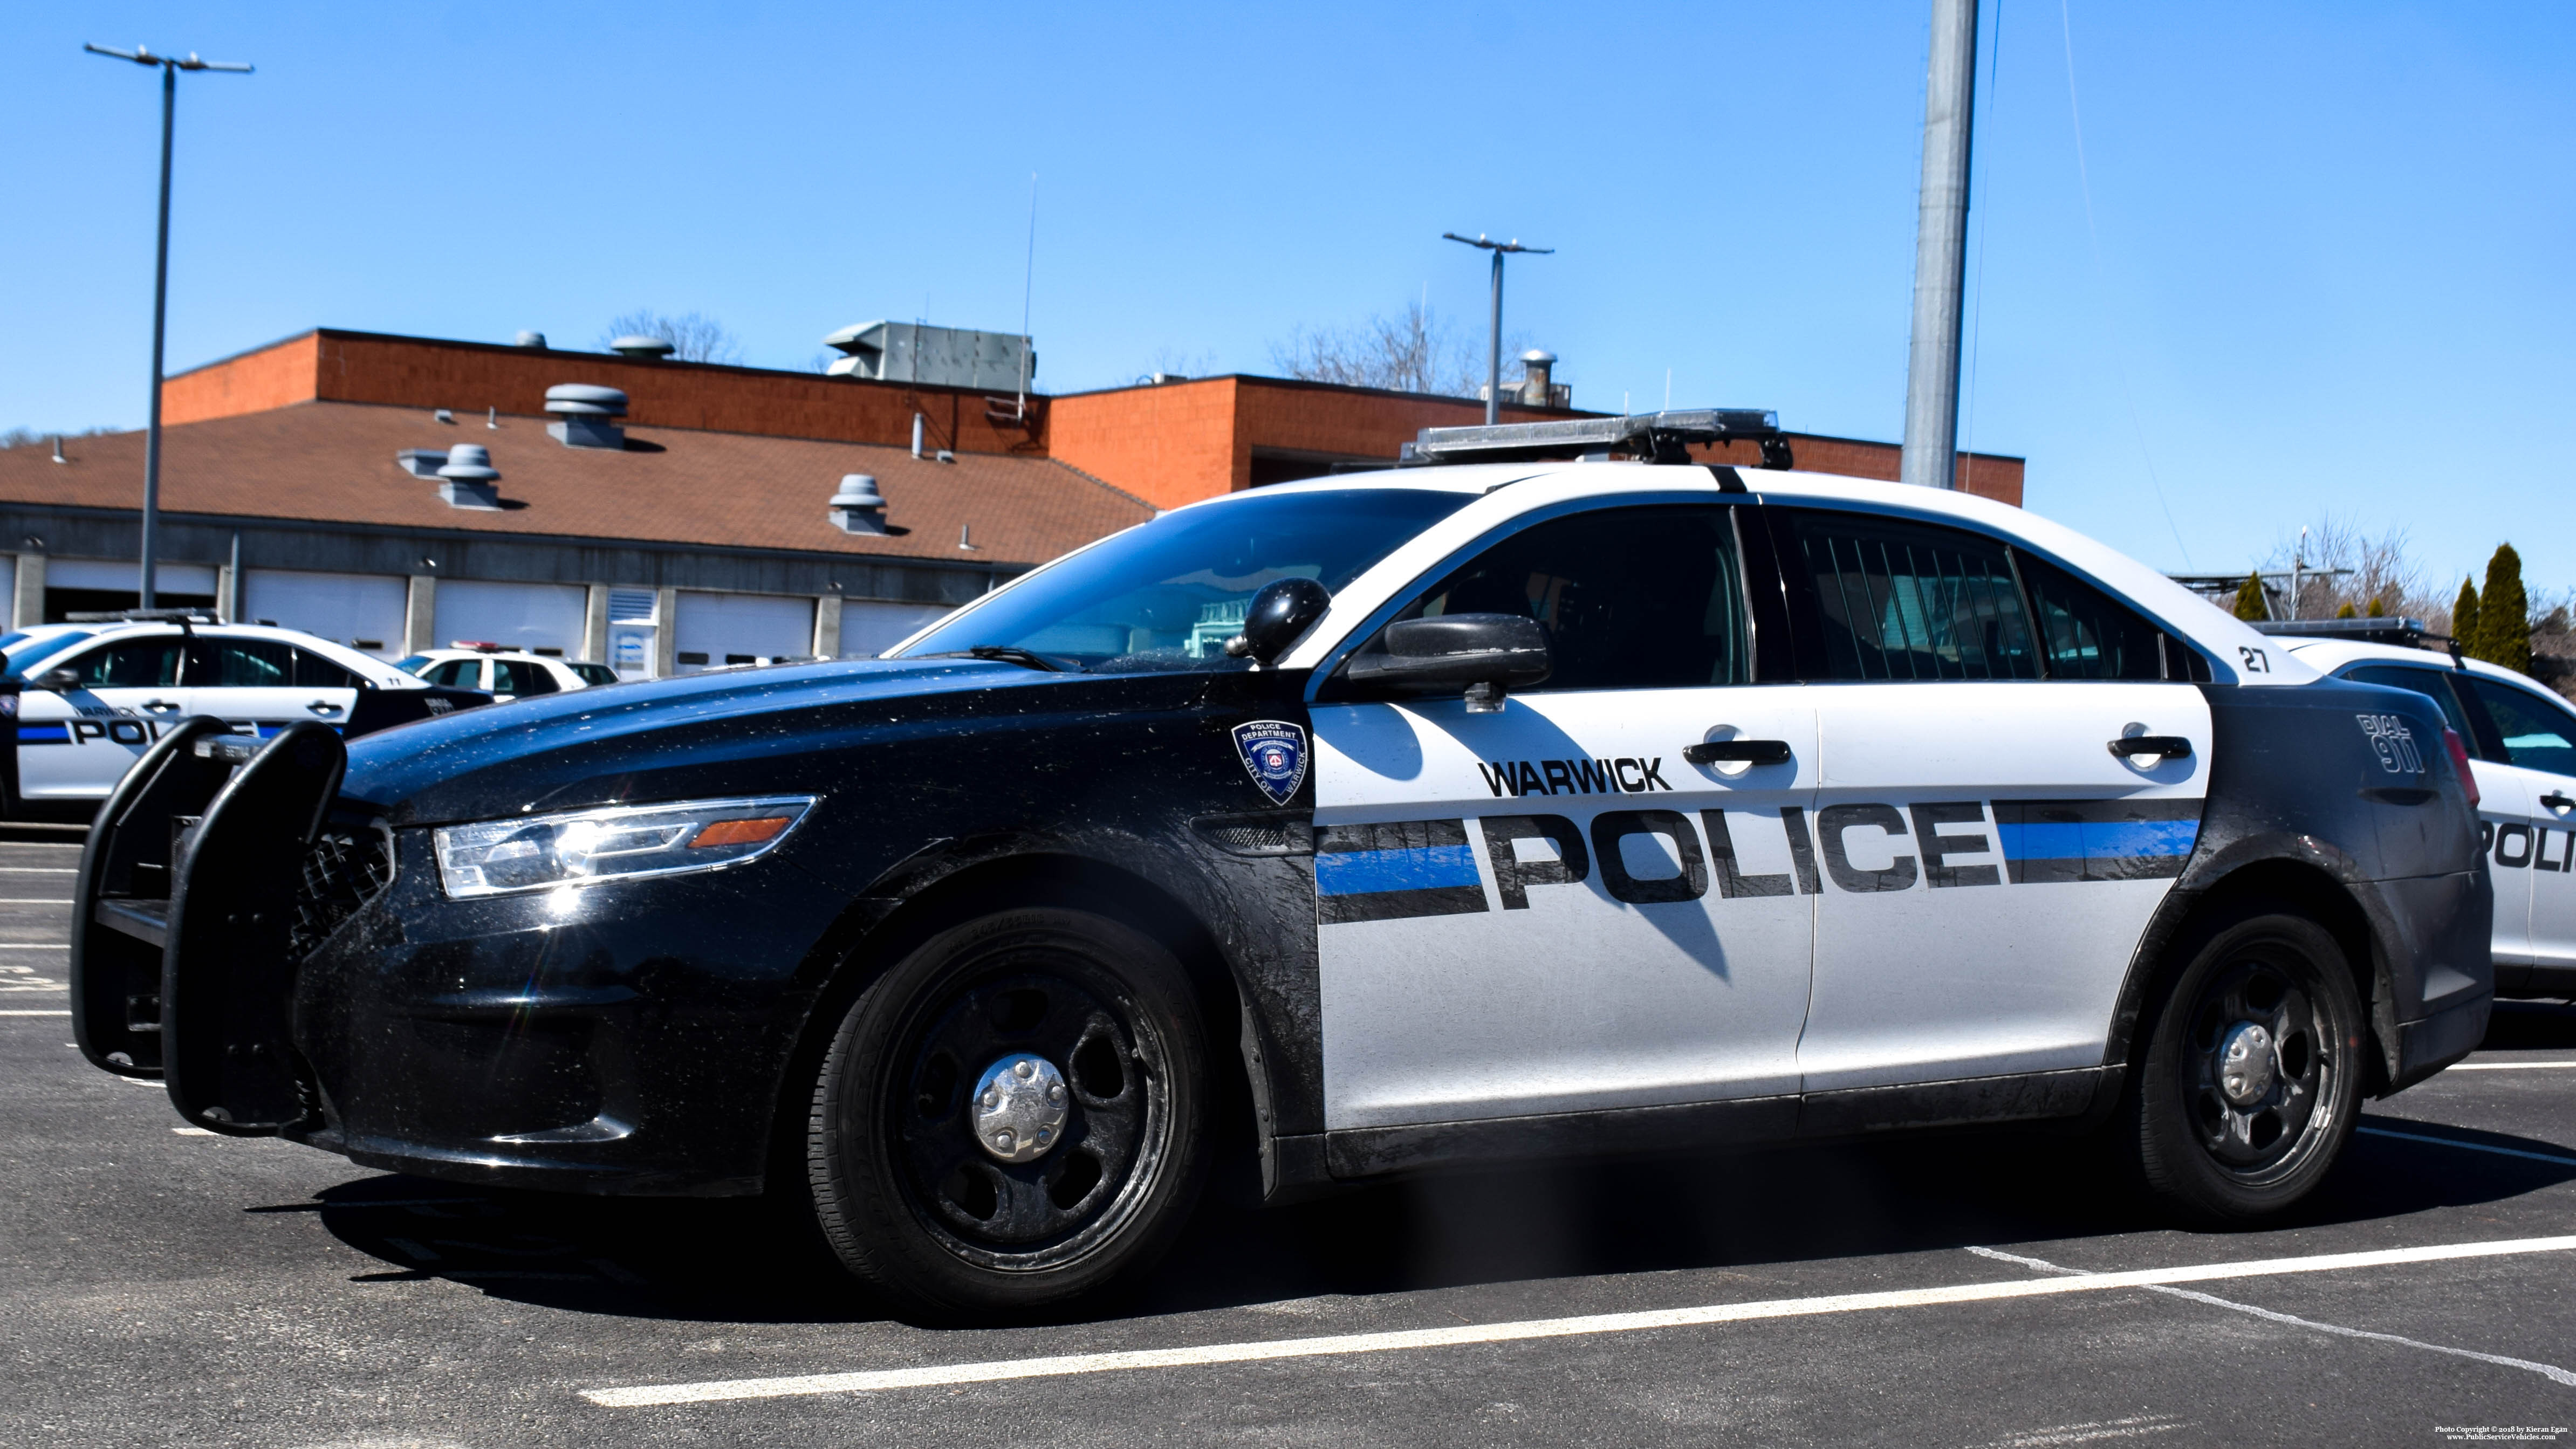
[[[314,324],[587,345],[652,306],[804,365],[1020,322],[1041,386],[1427,296],[1517,234],[1579,407],[1899,438],[1927,0],[1850,5],[118,5],[0,46],[0,427],[139,425],[155,77],[173,371]],[[2576,584],[2576,10],[1986,0],[1963,435],[2166,569],[2300,522]],[[2081,172],[2069,106],[2081,108]],[[1989,85],[1991,80],[1991,85]],[[2084,180],[2092,188],[2087,221]]]

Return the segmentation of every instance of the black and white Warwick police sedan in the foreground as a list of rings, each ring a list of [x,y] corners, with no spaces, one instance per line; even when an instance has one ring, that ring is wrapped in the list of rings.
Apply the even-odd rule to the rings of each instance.
[[[1236,1125],[1291,1199],[2058,1120],[2226,1223],[2478,1042],[2434,700],[1705,438],[1785,463],[1767,414],[1432,430],[886,659],[180,726],[82,862],[80,1045],[376,1168],[793,1197],[989,1315],[1151,1259]]]

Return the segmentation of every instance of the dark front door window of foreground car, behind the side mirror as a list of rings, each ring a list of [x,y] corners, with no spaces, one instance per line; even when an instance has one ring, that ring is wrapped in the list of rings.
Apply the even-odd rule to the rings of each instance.
[[[1556,659],[1540,690],[1741,685],[1744,584],[1726,507],[1618,507],[1525,528],[1401,618],[1535,618]]]

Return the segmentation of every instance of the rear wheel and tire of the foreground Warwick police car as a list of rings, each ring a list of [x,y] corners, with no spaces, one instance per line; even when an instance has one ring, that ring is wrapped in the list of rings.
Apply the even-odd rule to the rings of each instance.
[[[2308,916],[2257,906],[2195,942],[2154,1004],[2120,1132],[2148,1192],[2223,1228],[2334,1168],[2362,1104],[2362,1001]]]

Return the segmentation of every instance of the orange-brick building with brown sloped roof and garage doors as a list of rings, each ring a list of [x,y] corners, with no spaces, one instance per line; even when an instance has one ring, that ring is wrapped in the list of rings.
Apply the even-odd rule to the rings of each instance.
[[[1257,376],[1023,404],[337,329],[180,373],[162,409],[165,602],[384,656],[495,638],[626,674],[876,654],[1154,510],[1484,420],[1473,399]],[[1543,417],[1582,414],[1504,407]],[[1888,443],[1790,445],[1803,468],[1896,476]],[[64,440],[59,461],[0,450],[15,625],[131,605],[142,453],[142,432]],[[2020,502],[2020,458],[1963,456],[1963,474]]]

